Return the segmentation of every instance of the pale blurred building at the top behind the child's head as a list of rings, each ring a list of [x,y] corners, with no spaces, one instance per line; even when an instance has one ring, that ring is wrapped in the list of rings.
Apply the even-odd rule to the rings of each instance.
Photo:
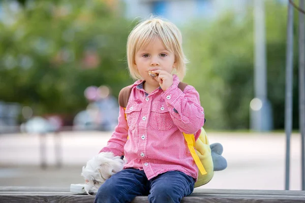
[[[127,17],[162,16],[174,23],[188,22],[194,18],[213,19],[232,10],[237,14],[246,12],[252,0],[123,0],[127,5]]]

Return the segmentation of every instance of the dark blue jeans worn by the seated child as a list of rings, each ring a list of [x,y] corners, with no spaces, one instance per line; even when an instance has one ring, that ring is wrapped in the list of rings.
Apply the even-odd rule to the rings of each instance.
[[[95,203],[131,202],[136,196],[148,195],[150,203],[180,202],[194,190],[195,179],[170,171],[147,180],[144,171],[126,168],[111,176],[98,190]]]

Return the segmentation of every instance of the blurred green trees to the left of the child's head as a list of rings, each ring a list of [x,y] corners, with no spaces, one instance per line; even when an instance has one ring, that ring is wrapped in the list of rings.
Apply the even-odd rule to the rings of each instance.
[[[13,23],[0,21],[0,100],[36,115],[75,115],[90,85],[117,95],[132,82],[125,58],[133,25],[120,13],[98,0],[26,1],[10,15]]]

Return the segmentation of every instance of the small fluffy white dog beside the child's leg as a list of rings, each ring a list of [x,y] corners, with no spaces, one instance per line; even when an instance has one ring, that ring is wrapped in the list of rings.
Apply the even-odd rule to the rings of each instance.
[[[123,170],[125,163],[123,156],[114,156],[111,152],[101,152],[88,160],[81,173],[87,181],[84,187],[87,194],[95,194],[105,180]]]

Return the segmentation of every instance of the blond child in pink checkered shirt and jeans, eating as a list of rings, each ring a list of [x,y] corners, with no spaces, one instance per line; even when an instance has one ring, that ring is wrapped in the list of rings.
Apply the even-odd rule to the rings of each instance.
[[[157,18],[131,31],[128,66],[138,80],[101,150],[125,155],[127,163],[101,185],[95,202],[130,202],[138,195],[148,195],[149,202],[180,202],[193,192],[198,167],[181,132],[195,134],[197,140],[204,112],[194,87],[183,92],[177,87],[187,62],[181,42],[178,28]]]

